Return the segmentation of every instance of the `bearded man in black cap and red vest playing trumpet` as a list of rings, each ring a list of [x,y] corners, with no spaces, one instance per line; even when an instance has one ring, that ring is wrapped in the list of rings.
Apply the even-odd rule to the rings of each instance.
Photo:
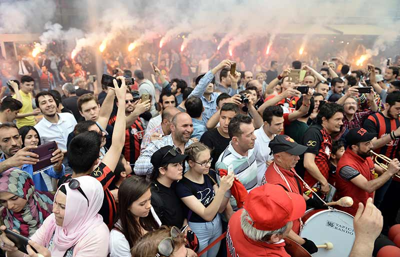
[[[386,172],[374,178],[375,167],[370,151],[375,135],[364,128],[351,129],[346,135],[347,149],[337,163],[337,196],[350,196],[354,203],[350,207],[336,207],[353,216],[357,212],[359,202],[365,205],[369,197],[373,198],[373,192],[400,170],[400,162],[395,158],[390,161]]]

